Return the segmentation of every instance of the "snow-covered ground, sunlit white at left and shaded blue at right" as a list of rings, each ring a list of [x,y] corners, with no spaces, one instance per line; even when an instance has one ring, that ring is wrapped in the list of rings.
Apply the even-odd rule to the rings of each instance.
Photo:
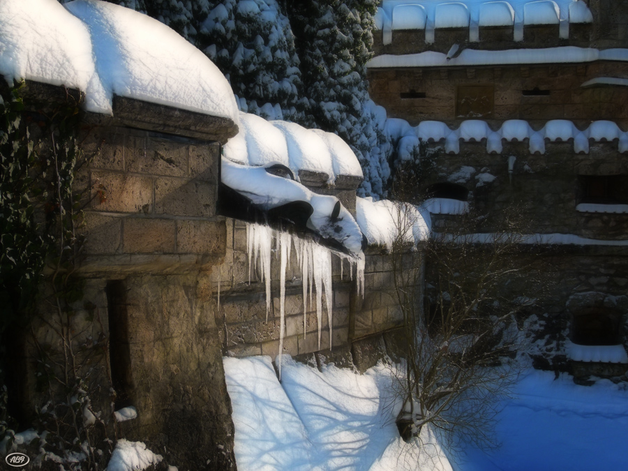
[[[628,463],[628,390],[598,380],[521,374],[502,402],[495,429],[501,446],[463,444],[451,464],[435,440],[426,449],[399,438],[390,370],[364,375],[284,360],[281,383],[269,357],[225,358],[236,428],[235,454],[246,470],[620,470]]]

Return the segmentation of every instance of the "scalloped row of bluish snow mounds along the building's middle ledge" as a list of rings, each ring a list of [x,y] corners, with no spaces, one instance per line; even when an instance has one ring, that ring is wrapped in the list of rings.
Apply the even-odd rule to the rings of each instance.
[[[618,151],[628,151],[628,133],[622,131],[613,121],[593,121],[585,130],[576,128],[566,119],[547,121],[545,126],[534,130],[528,121],[509,119],[498,130],[492,130],[486,121],[470,119],[462,121],[457,129],[451,129],[440,121],[421,121],[418,126],[408,126],[401,119],[388,119],[387,132],[398,140],[400,158],[410,158],[412,147],[424,142],[444,142],[447,154],[458,154],[460,142],[481,142],[486,140],[488,154],[501,154],[502,140],[528,140],[530,154],[545,154],[546,142],[567,142],[573,140],[576,154],[589,153],[589,141],[618,141]]]

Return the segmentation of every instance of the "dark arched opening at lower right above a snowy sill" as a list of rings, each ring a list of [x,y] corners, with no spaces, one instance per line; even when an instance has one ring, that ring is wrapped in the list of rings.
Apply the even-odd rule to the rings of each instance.
[[[618,345],[621,315],[615,311],[592,310],[574,315],[571,341],[578,345]]]

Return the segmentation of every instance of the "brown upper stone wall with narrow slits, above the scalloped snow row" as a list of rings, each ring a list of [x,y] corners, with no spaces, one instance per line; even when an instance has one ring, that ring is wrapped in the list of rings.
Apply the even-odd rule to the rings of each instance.
[[[449,46],[448,46],[449,47]],[[628,124],[628,87],[581,87],[595,77],[619,77],[628,64],[597,61],[582,64],[477,66],[442,68],[369,68],[369,94],[388,117],[412,126],[433,119],[457,127],[468,116],[456,115],[459,87],[483,86],[493,110],[481,119],[499,127],[505,119],[525,119],[541,127],[549,119],[570,119],[585,128],[597,119]],[[529,95],[538,89],[545,95]],[[414,91],[425,98],[401,98]]]

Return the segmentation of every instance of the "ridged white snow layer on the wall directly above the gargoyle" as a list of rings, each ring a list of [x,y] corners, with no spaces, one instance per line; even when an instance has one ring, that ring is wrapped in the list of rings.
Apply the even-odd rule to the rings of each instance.
[[[299,178],[299,170],[327,174],[329,184],[339,175],[364,177],[351,147],[341,137],[285,121],[267,121],[240,113],[240,132],[225,145],[225,157],[244,165],[281,163]]]

